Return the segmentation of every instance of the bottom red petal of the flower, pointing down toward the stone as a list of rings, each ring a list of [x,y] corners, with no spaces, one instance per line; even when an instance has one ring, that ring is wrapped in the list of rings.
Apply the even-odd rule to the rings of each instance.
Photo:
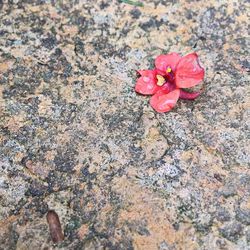
[[[150,105],[159,113],[168,112],[171,110],[180,96],[180,90],[176,89],[168,94],[157,92],[151,97]]]

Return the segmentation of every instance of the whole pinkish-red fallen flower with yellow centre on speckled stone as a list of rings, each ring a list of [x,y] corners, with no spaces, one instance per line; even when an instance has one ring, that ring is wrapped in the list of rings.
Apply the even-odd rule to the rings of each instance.
[[[159,55],[155,69],[139,70],[135,91],[153,95],[150,105],[160,113],[170,111],[178,99],[194,100],[200,92],[186,92],[183,88],[196,86],[204,79],[205,71],[200,66],[196,53],[181,57],[177,53]]]

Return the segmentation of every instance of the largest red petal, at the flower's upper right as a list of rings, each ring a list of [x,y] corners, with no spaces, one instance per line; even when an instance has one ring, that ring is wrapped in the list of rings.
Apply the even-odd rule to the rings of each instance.
[[[190,88],[199,84],[205,75],[198,55],[192,53],[181,58],[175,71],[175,83],[179,88]]]

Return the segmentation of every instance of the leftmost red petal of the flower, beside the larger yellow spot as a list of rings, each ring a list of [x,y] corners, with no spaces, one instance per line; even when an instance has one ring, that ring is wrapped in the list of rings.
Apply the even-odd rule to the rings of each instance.
[[[148,76],[141,76],[135,85],[135,91],[142,95],[153,95],[160,89],[161,87],[156,85],[156,79]]]

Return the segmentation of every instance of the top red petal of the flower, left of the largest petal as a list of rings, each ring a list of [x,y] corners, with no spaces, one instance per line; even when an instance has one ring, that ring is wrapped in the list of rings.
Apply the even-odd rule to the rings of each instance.
[[[180,61],[181,56],[177,53],[170,53],[167,55],[159,55],[155,59],[155,67],[158,70],[161,70],[166,74],[167,67],[171,67],[172,71],[175,71],[175,68]]]

